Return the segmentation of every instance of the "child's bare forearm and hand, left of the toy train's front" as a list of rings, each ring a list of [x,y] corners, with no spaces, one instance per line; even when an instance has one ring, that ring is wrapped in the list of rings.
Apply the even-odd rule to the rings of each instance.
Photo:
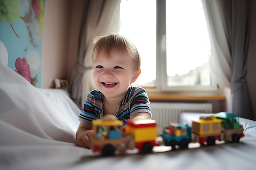
[[[91,125],[80,122],[79,127],[76,130],[76,145],[90,148],[93,133]]]

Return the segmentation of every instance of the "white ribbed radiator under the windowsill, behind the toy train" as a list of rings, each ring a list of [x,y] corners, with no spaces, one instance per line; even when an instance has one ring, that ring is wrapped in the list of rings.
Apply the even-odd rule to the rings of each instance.
[[[162,130],[164,125],[177,122],[179,114],[182,112],[212,113],[212,104],[150,102],[150,109],[152,119],[157,121],[158,129]]]

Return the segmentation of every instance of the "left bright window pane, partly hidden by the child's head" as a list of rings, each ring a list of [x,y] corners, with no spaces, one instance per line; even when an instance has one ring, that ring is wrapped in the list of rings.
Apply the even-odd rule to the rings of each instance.
[[[134,84],[155,86],[156,1],[121,0],[120,34],[129,38],[141,55],[141,75]]]

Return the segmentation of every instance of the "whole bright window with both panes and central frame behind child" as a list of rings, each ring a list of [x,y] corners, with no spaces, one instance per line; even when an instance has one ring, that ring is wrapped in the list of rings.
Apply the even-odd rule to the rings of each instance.
[[[120,34],[141,54],[136,85],[157,91],[216,90],[201,0],[122,0],[120,20]]]

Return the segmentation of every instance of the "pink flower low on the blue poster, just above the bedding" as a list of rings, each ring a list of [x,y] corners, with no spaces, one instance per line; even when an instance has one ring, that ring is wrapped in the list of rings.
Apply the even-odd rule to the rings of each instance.
[[[27,64],[27,60],[25,58],[20,58],[18,57],[15,61],[15,67],[16,67],[16,72],[22,75],[29,83],[31,83],[31,71],[30,71],[30,66]]]

